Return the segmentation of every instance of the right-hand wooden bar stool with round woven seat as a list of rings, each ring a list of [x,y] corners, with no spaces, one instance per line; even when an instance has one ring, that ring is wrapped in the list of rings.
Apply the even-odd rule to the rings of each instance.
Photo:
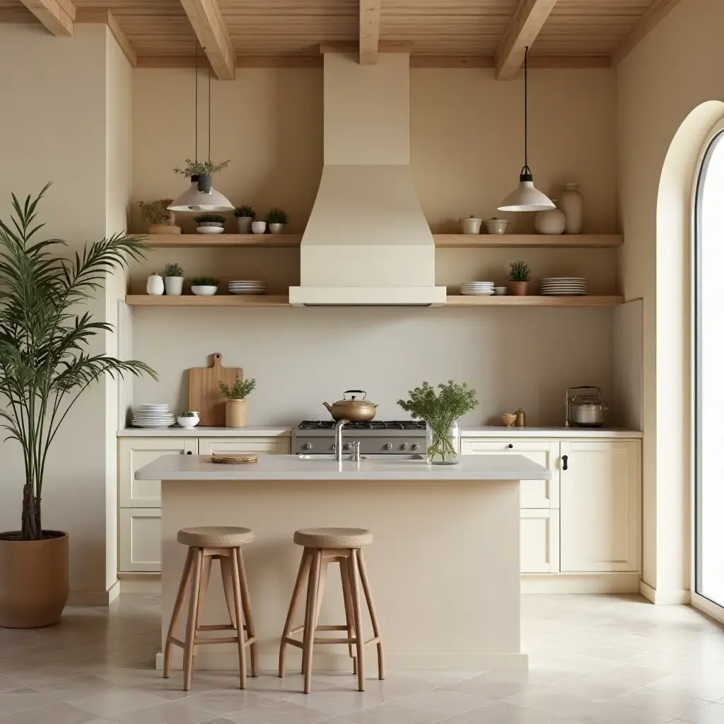
[[[302,649],[304,693],[309,694],[313,644],[348,644],[350,657],[353,660],[353,673],[357,674],[358,688],[360,691],[364,691],[364,647],[369,644],[377,644],[379,678],[384,679],[382,638],[362,557],[362,546],[372,542],[372,534],[363,528],[308,528],[297,531],[294,534],[294,542],[303,546],[304,550],[299,564],[297,581],[294,584],[294,592],[292,592],[287,622],[284,626],[284,633],[282,633],[282,644],[279,650],[279,676],[283,677],[286,673],[287,644]],[[347,619],[347,622],[340,626],[318,626],[321,599],[324,596],[324,581],[327,578],[329,563],[340,564],[342,595]],[[305,577],[308,582],[304,625],[292,628]],[[358,577],[362,582],[372,621],[374,636],[369,641],[364,640],[362,633]],[[303,631],[302,640],[293,639],[292,634],[300,631]],[[317,639],[314,635],[316,631],[346,631],[347,636],[340,639]]]

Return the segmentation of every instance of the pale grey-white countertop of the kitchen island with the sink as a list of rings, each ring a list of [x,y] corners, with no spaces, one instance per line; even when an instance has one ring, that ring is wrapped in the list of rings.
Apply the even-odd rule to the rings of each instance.
[[[136,480],[550,480],[552,473],[523,455],[463,455],[459,465],[424,460],[300,460],[261,455],[258,463],[219,465],[209,455],[163,455],[135,473]]]

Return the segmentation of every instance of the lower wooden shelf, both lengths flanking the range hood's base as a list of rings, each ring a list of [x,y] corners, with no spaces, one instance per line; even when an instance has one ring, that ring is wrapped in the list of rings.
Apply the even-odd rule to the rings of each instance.
[[[180,297],[154,297],[148,294],[130,294],[126,303],[134,307],[288,307],[289,298],[272,295],[216,294],[212,297],[182,295]],[[623,304],[623,297],[512,297],[463,296],[447,298],[450,307],[615,307]]]

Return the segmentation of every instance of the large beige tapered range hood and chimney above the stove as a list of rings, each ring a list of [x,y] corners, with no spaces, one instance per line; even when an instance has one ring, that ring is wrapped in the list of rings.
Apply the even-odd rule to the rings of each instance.
[[[324,169],[295,306],[429,306],[435,246],[410,169],[410,56],[324,54]]]

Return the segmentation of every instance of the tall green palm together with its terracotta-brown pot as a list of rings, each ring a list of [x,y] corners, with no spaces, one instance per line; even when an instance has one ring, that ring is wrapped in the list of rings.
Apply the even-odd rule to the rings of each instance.
[[[0,221],[0,423],[22,447],[20,530],[0,533],[0,626],[57,623],[68,598],[68,534],[43,529],[41,497],[46,461],[59,427],[80,394],[106,374],[149,374],[143,362],[88,351],[97,334],[112,332],[83,306],[106,274],[143,258],[140,237],[125,234],[56,256],[57,239],[36,241],[31,201],[12,196],[14,214]],[[80,314],[76,312],[80,311]]]

